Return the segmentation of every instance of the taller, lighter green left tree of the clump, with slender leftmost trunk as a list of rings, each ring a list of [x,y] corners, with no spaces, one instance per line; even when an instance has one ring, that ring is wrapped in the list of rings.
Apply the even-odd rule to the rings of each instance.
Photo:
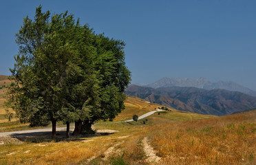
[[[34,21],[23,19],[16,40],[19,54],[10,69],[15,83],[9,90],[9,106],[21,122],[37,126],[51,121],[54,138],[58,120],[69,124],[81,118],[82,109],[92,107],[88,101],[92,96],[87,94],[92,94],[96,78],[91,69],[94,49],[87,47],[82,36],[87,31],[92,33],[67,12],[50,19],[50,12],[43,13],[41,6]]]

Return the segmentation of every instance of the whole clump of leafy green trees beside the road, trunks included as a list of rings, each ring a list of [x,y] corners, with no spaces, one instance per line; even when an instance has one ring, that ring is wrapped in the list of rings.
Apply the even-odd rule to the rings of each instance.
[[[112,120],[125,108],[131,74],[125,66],[125,43],[95,34],[72,14],[36,8],[16,34],[19,54],[10,72],[9,116],[30,126],[75,122],[73,135],[92,133],[98,120]]]

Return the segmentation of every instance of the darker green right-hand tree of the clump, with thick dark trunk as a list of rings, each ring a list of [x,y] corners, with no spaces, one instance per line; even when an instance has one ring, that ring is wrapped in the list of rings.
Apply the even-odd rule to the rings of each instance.
[[[93,45],[96,48],[94,67],[99,85],[99,109],[90,109],[90,118],[77,120],[73,135],[92,133],[94,122],[107,118],[112,120],[125,109],[124,92],[131,80],[131,74],[125,66],[125,43],[100,34],[95,36]]]

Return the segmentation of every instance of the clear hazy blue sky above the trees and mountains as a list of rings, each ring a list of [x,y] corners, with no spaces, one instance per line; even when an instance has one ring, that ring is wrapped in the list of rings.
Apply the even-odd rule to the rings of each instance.
[[[1,1],[0,74],[10,75],[15,33],[36,7],[66,10],[97,34],[125,41],[131,83],[163,77],[231,80],[256,91],[256,1]]]

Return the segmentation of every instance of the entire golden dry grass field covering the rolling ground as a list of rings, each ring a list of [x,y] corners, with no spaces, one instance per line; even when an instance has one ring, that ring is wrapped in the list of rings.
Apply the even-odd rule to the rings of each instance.
[[[131,119],[160,107],[135,97],[114,121]],[[215,117],[171,109],[138,122],[97,122],[93,128],[115,130],[56,141],[45,135],[0,137],[0,164],[256,164],[256,111]],[[0,115],[0,120],[4,120]],[[61,123],[59,123],[61,125]],[[0,130],[29,129],[2,122]],[[108,132],[108,131],[107,131]],[[144,140],[158,162],[149,162]]]

